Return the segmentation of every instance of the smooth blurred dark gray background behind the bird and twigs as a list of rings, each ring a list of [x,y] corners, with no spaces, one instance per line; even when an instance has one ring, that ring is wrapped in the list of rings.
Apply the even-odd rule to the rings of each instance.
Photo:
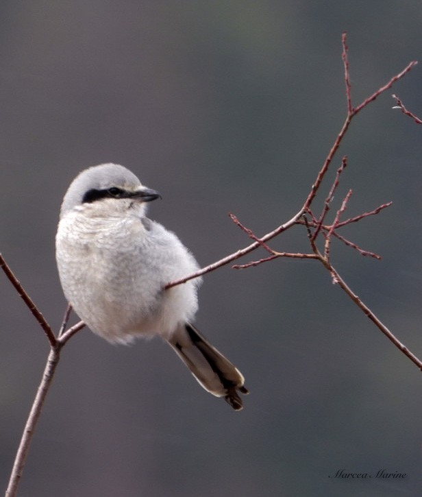
[[[0,4],[0,250],[57,329],[62,196],[119,162],[162,193],[150,216],[207,265],[300,208],[353,101],[421,58],[419,1],[9,0]],[[333,243],[340,274],[415,354],[421,334],[422,114],[417,66],[353,121],[333,205],[392,200]],[[323,198],[332,181],[325,182]],[[335,209],[334,209],[335,210]],[[299,228],[271,244],[308,250]],[[251,258],[260,258],[256,252]],[[243,262],[251,260],[245,258]],[[247,378],[245,409],[203,391],[159,340],[110,346],[88,330],[62,351],[23,497],[415,496],[422,375],[312,261],[206,276],[197,325]],[[0,483],[5,488],[48,354],[0,276]],[[73,316],[73,321],[76,322]],[[338,470],[404,479],[329,478]]]

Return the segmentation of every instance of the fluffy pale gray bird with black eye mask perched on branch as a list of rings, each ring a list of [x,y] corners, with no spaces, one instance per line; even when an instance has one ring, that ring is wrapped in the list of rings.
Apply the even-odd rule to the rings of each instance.
[[[160,197],[118,164],[76,176],[55,237],[64,296],[111,343],[161,337],[206,391],[240,411],[245,378],[193,324],[201,278],[166,289],[199,265],[175,233],[146,216],[147,204]]]

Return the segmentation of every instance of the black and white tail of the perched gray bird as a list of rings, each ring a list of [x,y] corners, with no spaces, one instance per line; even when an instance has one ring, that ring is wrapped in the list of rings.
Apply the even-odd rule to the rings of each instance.
[[[189,323],[180,325],[169,343],[204,389],[224,397],[236,411],[243,409],[238,391],[249,393],[243,386],[245,378],[197,328]]]

